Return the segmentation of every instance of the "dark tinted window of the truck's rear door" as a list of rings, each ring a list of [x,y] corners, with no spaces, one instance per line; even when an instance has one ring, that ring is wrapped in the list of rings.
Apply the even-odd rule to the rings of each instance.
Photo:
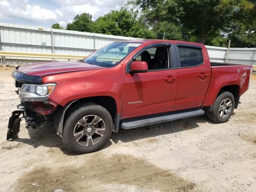
[[[179,47],[180,67],[192,67],[202,64],[203,56],[200,49]]]

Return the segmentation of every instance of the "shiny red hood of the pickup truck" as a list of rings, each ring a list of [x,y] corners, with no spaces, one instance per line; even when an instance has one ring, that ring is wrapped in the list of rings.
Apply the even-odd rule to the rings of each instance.
[[[91,69],[100,69],[104,67],[91,65],[88,63],[83,63],[79,61],[64,61],[64,62],[44,62],[29,64],[25,66],[20,66],[18,71],[25,73],[27,75],[34,76],[46,76],[51,74],[82,71],[82,70],[91,70]]]

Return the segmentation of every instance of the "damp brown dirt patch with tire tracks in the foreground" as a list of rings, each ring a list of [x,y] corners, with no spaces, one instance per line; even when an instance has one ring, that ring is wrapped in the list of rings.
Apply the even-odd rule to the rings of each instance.
[[[38,185],[32,185],[38,183]],[[188,192],[195,184],[163,170],[146,160],[124,154],[112,158],[93,155],[84,166],[37,168],[25,173],[13,184],[15,191],[106,191],[109,184],[126,184],[141,191]],[[198,190],[197,190],[198,191]]]

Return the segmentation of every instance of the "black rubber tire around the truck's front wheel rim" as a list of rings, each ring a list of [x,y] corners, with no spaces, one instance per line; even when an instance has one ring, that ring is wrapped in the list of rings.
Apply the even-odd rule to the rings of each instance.
[[[86,142],[81,142],[80,140],[78,140],[78,142],[75,139],[75,134],[77,134],[76,129],[78,129],[77,127],[79,126],[79,128],[81,128],[80,132],[82,132],[83,130],[86,130],[87,126],[81,126],[80,124],[78,124],[78,122],[80,122],[83,118],[84,118],[84,122],[86,124],[86,120],[85,117],[90,118],[90,116],[98,116],[99,118],[102,119],[104,126],[105,126],[105,130],[104,133],[101,132],[101,134],[103,134],[103,136],[99,136],[101,137],[100,140],[95,143],[93,143],[93,139],[88,139],[88,134],[85,135],[84,132],[82,133],[80,136],[82,136],[82,138],[80,140],[86,140]],[[88,118],[86,118],[88,119]],[[80,106],[74,106],[70,112],[68,112],[66,118],[65,118],[65,122],[64,122],[64,129],[63,129],[63,142],[65,144],[65,146],[71,150],[72,152],[78,153],[78,154],[85,154],[85,153],[90,153],[90,152],[94,152],[96,150],[99,150],[100,148],[102,148],[102,146],[109,140],[111,134],[112,134],[112,118],[109,114],[109,112],[103,108],[102,106],[95,104],[95,103],[83,103]],[[87,128],[89,129],[89,128]],[[90,130],[91,134],[91,138],[93,137],[93,134],[95,136],[98,136],[98,134],[96,134],[96,125],[95,125],[95,132],[93,133],[92,130]],[[98,140],[98,139],[97,139]],[[90,142],[90,144],[89,144]],[[80,143],[80,144],[79,144]],[[82,146],[81,143],[87,143],[88,146]],[[91,145],[91,146],[90,146]]]

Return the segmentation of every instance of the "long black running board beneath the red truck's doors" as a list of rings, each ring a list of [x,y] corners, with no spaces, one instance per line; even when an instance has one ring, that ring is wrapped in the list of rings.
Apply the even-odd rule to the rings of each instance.
[[[188,118],[188,117],[199,116],[203,114],[204,114],[204,110],[200,108],[163,113],[163,114],[156,114],[156,115],[123,120],[121,121],[121,127],[123,129],[133,129],[138,127]]]

